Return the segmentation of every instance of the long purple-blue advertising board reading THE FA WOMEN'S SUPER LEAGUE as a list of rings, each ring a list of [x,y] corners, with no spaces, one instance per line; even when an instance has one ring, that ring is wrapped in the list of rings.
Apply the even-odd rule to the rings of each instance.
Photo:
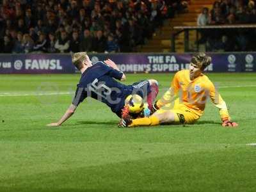
[[[88,54],[93,63],[110,58],[127,73],[176,72],[188,68],[193,53]],[[209,53],[208,72],[256,72],[256,52]],[[0,54],[0,74],[72,74],[71,54]]]

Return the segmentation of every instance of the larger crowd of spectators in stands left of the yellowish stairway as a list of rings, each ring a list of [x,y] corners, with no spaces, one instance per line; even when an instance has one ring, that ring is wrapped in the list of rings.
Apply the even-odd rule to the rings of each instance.
[[[0,52],[132,52],[179,0],[0,0]]]

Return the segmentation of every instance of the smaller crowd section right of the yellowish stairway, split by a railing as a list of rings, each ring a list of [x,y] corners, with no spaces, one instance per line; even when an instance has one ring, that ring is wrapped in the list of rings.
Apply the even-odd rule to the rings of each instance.
[[[212,9],[203,8],[197,25],[256,24],[256,6],[253,0],[215,1]],[[255,51],[256,29],[202,29],[199,44],[207,51]]]

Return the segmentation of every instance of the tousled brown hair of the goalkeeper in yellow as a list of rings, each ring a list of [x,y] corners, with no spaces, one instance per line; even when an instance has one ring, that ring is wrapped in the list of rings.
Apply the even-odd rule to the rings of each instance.
[[[208,65],[211,64],[212,58],[207,56],[204,52],[198,52],[191,58],[191,63],[198,66],[201,70],[204,70]]]

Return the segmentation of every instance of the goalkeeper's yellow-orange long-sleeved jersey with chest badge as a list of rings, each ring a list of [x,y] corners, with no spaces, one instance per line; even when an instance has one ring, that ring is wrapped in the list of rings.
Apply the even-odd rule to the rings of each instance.
[[[202,116],[207,98],[211,98],[214,106],[220,109],[221,118],[228,118],[227,105],[211,80],[201,74],[193,81],[189,79],[189,70],[180,70],[173,77],[170,89],[164,93],[163,98],[157,100],[157,106],[161,108],[179,96],[180,103],[183,103],[190,111]]]

